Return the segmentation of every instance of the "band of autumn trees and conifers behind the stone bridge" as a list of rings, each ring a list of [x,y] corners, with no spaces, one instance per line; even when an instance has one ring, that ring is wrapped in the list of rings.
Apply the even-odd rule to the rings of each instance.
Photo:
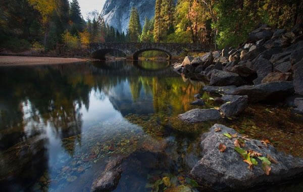
[[[81,15],[77,0],[3,0],[0,51],[85,50],[98,42],[184,42],[237,46],[260,24],[291,29],[302,23],[300,0],[156,0],[154,18],[140,25],[133,7],[119,32],[100,13]]]

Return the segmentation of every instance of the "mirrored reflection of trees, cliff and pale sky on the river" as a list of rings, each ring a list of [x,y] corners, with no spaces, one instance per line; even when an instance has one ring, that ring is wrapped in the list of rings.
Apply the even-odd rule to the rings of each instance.
[[[88,174],[86,190],[98,160],[163,140],[129,117],[149,118],[161,136],[163,114],[188,110],[200,88],[169,63],[145,61],[2,67],[0,85],[0,185],[8,191],[63,190]]]

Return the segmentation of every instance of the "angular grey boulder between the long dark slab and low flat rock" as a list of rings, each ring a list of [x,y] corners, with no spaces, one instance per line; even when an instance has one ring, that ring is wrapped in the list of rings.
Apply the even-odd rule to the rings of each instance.
[[[248,97],[246,95],[239,96],[237,99],[232,99],[232,101],[223,104],[220,110],[225,117],[232,117],[244,111],[247,107],[247,102]]]

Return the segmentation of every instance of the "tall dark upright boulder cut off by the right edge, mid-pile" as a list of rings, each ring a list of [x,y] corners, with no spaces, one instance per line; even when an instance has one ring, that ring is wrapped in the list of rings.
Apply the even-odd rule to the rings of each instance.
[[[303,94],[303,59],[292,66],[293,86],[298,94]]]

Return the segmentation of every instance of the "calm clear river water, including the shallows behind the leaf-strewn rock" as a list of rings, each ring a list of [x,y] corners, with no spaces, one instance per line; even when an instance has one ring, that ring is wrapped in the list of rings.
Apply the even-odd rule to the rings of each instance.
[[[165,176],[186,184],[200,158],[199,133],[213,124],[178,122],[205,84],[182,79],[166,62],[0,67],[0,85],[2,191],[89,191],[117,156],[125,160],[116,191],[155,190]],[[204,108],[218,105],[208,100]],[[266,113],[271,107],[222,123],[256,138],[267,134],[281,150],[289,143],[285,151],[301,156],[303,135],[296,131],[303,123],[283,108]],[[299,191],[301,184],[283,187]]]

